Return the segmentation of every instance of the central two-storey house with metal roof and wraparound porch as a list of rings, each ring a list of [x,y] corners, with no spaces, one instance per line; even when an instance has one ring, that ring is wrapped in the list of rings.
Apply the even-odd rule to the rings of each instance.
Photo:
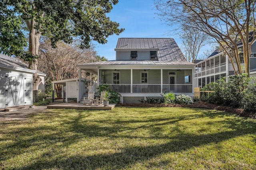
[[[96,86],[108,84],[111,90],[119,92],[122,103],[159,98],[165,92],[193,97],[195,64],[186,61],[174,39],[119,38],[115,51],[114,61],[78,67],[98,76]],[[83,86],[80,82],[78,89],[84,89]],[[84,90],[78,94],[79,101]]]

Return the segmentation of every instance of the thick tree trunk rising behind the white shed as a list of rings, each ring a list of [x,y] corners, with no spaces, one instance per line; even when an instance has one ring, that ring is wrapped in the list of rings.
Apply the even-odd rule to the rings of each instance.
[[[32,55],[38,55],[38,49],[39,49],[39,39],[41,36],[40,31],[36,31],[34,28],[35,21],[34,20],[29,20],[27,21],[27,26],[29,29],[29,48],[28,51]],[[42,79],[40,76],[37,74],[37,66],[38,66],[38,59],[32,59],[29,62],[28,68],[31,70],[36,70],[36,73],[33,73],[33,84],[32,84],[32,90],[33,90],[33,101],[38,102],[38,86]]]

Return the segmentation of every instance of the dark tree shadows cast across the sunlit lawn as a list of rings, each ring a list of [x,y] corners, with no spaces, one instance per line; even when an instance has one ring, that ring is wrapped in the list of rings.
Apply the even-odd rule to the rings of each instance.
[[[193,109],[191,109],[193,112]],[[196,111],[195,111],[196,112]],[[172,117],[165,118],[156,118],[150,117],[146,120],[141,119],[128,119],[128,120],[118,120],[114,121],[113,117],[110,118],[104,117],[103,119],[84,119],[88,117],[91,112],[82,112],[79,111],[78,114],[70,117],[65,117],[65,115],[61,115],[62,121],[59,126],[62,126],[62,130],[58,130],[57,127],[52,126],[40,126],[40,127],[24,127],[17,129],[16,131],[12,131],[9,133],[15,134],[17,136],[24,135],[23,139],[17,140],[15,143],[8,145],[6,147],[17,148],[17,150],[10,151],[8,153],[7,150],[0,154],[22,154],[24,150],[27,150],[29,147],[37,145],[40,140],[44,139],[47,143],[47,146],[42,145],[39,146],[38,149],[43,149],[44,147],[53,147],[54,152],[54,144],[61,142],[62,147],[68,147],[74,143],[77,143],[80,139],[90,138],[90,137],[110,137],[110,138],[118,138],[120,137],[117,133],[121,131],[134,131],[136,129],[146,129],[146,128],[154,128],[154,131],[161,131],[162,125],[175,125],[175,123],[183,120],[192,120],[203,117],[223,117],[225,115],[224,112],[214,112],[214,111],[203,111],[200,114],[190,115],[177,115]],[[59,115],[54,115],[54,117],[58,117]],[[114,115],[113,115],[114,116]],[[38,118],[39,119],[39,118]],[[90,121],[95,122],[90,123]],[[100,123],[100,124],[99,124]],[[143,123],[143,125],[138,125],[136,127],[130,127],[129,124]],[[191,133],[183,133],[179,127],[175,126],[174,131],[178,133],[173,137],[163,136],[162,139],[166,139],[166,143],[161,145],[150,145],[150,146],[127,146],[120,149],[118,152],[110,153],[110,154],[94,154],[93,156],[68,156],[58,158],[52,158],[50,161],[44,161],[40,158],[38,160],[33,160],[30,164],[26,166],[19,167],[17,169],[43,169],[43,168],[64,168],[64,169],[121,169],[128,168],[137,162],[142,162],[144,160],[148,160],[155,156],[159,156],[160,154],[168,153],[168,152],[179,152],[182,150],[187,150],[192,147],[198,147],[201,145],[206,145],[209,143],[218,143],[220,141],[225,141],[240,135],[246,134],[255,134],[256,133],[256,123],[255,121],[251,121],[250,119],[236,119],[236,117],[225,118],[221,121],[223,125],[227,128],[232,129],[232,131],[221,131],[217,133],[211,134],[191,134]],[[108,126],[106,126],[108,125]],[[44,131],[48,131],[49,134],[42,133]],[[31,138],[28,137],[28,132],[32,132]],[[50,133],[52,132],[52,133]],[[2,132],[1,132],[2,133]],[[38,135],[36,135],[38,134]],[[134,140],[139,140],[139,136],[132,135],[123,135],[124,138],[130,138]],[[160,139],[159,134],[151,135],[150,137],[146,137],[148,139]],[[145,139],[145,137],[141,137],[141,139]],[[7,148],[6,148],[7,149]],[[56,148],[57,150],[57,148]],[[45,153],[44,155],[51,155],[50,152]],[[3,158],[1,158],[3,160]]]

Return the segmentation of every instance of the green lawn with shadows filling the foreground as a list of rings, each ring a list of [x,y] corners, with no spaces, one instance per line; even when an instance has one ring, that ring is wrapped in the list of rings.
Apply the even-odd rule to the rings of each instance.
[[[256,169],[256,120],[180,107],[0,122],[0,169]]]

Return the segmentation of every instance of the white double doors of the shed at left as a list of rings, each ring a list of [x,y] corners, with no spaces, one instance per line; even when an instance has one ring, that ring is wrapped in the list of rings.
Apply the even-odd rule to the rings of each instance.
[[[5,82],[7,107],[24,105],[24,78],[10,75]]]

